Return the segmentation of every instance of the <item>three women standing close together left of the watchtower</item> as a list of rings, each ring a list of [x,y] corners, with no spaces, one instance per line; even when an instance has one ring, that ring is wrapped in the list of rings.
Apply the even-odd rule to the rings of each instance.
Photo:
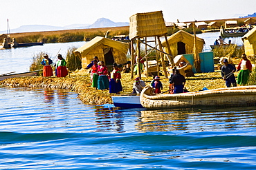
[[[95,89],[109,89],[109,93],[120,94],[122,92],[121,71],[122,65],[113,63],[113,71],[109,72],[104,61],[99,61],[98,56],[87,65],[86,69],[91,68],[91,83]]]

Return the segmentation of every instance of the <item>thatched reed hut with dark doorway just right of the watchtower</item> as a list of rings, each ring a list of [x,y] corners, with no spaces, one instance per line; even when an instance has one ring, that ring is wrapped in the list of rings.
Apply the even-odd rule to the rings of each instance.
[[[180,30],[172,36],[167,38],[168,43],[170,44],[170,49],[172,51],[172,55],[176,56],[179,54],[190,54],[193,52],[194,48],[194,36],[188,32]],[[197,52],[202,52],[203,45],[205,41],[199,37],[196,37],[197,43]],[[166,41],[162,42],[165,52],[167,52],[167,44]]]

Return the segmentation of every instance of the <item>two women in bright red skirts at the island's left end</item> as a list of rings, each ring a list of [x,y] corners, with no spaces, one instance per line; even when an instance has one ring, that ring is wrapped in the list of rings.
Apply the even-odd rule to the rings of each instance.
[[[43,76],[53,76],[53,69],[51,65],[53,61],[48,57],[48,54],[44,54],[44,59],[41,62],[43,67]],[[57,55],[57,62],[54,65],[55,67],[55,76],[57,77],[65,77],[68,75],[68,70],[66,69],[66,61],[63,59],[62,54]]]

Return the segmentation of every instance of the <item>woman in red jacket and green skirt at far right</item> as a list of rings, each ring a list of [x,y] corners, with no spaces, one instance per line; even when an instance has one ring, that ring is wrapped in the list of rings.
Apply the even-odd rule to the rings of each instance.
[[[250,72],[252,71],[252,64],[247,59],[246,54],[241,54],[241,61],[237,67],[237,71],[240,71],[237,75],[237,84],[246,85]]]

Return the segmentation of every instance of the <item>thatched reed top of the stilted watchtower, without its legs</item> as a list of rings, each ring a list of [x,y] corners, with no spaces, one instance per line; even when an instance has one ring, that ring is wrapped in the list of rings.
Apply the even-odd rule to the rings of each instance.
[[[164,34],[167,34],[167,28],[162,11],[137,13],[130,17],[130,39]]]

